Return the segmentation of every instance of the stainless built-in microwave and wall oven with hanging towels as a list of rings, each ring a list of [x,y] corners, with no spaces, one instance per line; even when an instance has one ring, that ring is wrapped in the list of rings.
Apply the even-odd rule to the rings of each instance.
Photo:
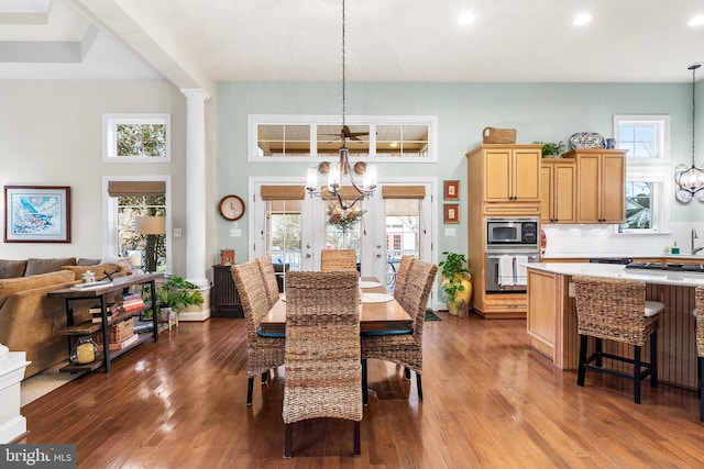
[[[487,293],[525,293],[525,265],[540,260],[540,233],[537,216],[486,219]]]

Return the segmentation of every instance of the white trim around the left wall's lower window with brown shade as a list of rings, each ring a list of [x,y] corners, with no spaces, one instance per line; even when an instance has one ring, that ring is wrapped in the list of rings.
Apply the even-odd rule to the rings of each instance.
[[[163,181],[166,186],[166,271],[172,270],[172,256],[174,255],[174,239],[172,237],[172,177],[169,175],[139,175],[139,176],[103,176],[100,190],[102,193],[102,257],[116,256],[118,253],[118,198],[110,197],[108,183],[110,181]]]

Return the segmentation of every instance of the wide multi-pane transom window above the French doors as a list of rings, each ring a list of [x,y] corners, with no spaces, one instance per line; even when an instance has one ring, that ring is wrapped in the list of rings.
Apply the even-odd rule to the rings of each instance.
[[[436,116],[350,116],[345,124],[350,158],[438,160]],[[248,125],[250,161],[337,158],[342,143],[342,122],[329,115],[251,114]]]

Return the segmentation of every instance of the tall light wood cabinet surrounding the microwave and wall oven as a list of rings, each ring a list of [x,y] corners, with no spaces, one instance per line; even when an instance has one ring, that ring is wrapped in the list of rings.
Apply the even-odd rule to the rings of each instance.
[[[540,214],[542,145],[481,145],[468,157],[468,260],[472,308],[490,319],[526,317],[526,293],[486,293],[486,216]]]

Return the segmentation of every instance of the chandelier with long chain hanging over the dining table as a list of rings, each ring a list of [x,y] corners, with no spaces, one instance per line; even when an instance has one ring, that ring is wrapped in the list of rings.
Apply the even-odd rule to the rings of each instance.
[[[338,161],[328,163],[322,161],[318,167],[308,168],[306,177],[306,189],[310,193],[310,197],[321,196],[321,191],[318,190],[318,177],[320,175],[327,175],[327,192],[337,199],[340,208],[343,211],[350,210],[354,204],[371,197],[376,188],[376,167],[374,165],[367,165],[364,161],[359,161],[352,167],[350,165],[350,150],[348,149],[345,142],[348,138],[353,137],[355,134],[350,132],[350,127],[345,121],[345,57],[344,57],[344,0],[342,0],[342,130],[340,131],[340,138],[342,145],[340,146]],[[355,176],[362,177],[362,181],[355,180]],[[353,188],[352,194],[342,194],[343,178],[349,180],[349,185]]]

